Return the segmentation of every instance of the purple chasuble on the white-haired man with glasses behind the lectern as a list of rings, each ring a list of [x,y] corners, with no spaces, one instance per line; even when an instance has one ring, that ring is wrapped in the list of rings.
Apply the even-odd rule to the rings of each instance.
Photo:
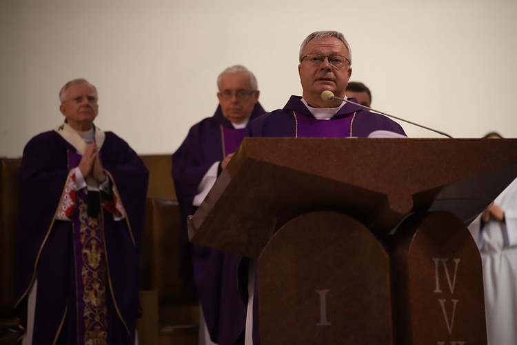
[[[250,121],[264,109],[256,103]],[[245,129],[233,128],[221,106],[212,117],[194,124],[172,155],[172,178],[181,208],[181,277],[198,294],[213,342],[234,345],[242,339],[246,319],[247,259],[234,253],[190,243],[186,219],[195,211],[198,186],[214,162],[235,152]]]

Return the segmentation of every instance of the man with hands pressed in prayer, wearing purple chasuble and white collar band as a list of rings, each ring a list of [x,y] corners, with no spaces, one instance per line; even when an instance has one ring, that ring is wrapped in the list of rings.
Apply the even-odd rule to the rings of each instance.
[[[59,92],[64,124],[23,150],[17,303],[23,344],[135,344],[148,170],[94,125],[97,89]]]

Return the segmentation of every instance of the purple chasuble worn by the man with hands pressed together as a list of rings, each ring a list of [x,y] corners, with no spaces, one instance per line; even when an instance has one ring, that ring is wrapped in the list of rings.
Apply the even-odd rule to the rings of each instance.
[[[23,335],[28,329],[28,296],[37,277],[34,323],[29,325],[34,345],[134,344],[140,313],[138,248],[149,173],[113,132],[105,132],[99,155],[110,184],[118,190],[124,219],[115,220],[105,207],[100,217],[88,217],[84,190],[76,191],[70,220],[57,219],[70,168],[81,157],[56,130],[36,135],[23,149],[15,313]],[[112,189],[100,198],[108,205]]]

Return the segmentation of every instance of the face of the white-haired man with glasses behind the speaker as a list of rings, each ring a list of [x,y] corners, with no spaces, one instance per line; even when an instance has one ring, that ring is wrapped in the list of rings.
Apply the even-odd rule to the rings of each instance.
[[[247,72],[231,72],[221,75],[217,98],[224,117],[239,124],[252,114],[256,102],[259,101],[259,91],[253,90]]]

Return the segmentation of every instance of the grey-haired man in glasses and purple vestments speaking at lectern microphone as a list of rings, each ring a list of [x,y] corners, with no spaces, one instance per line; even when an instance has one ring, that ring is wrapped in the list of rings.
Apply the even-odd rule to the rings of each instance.
[[[325,90],[345,98],[352,75],[352,50],[341,32],[313,32],[300,48],[298,74],[302,97],[291,96],[248,126],[251,137],[368,137],[375,130],[405,135],[391,119],[339,99],[323,99]],[[357,99],[351,98],[357,102]]]

